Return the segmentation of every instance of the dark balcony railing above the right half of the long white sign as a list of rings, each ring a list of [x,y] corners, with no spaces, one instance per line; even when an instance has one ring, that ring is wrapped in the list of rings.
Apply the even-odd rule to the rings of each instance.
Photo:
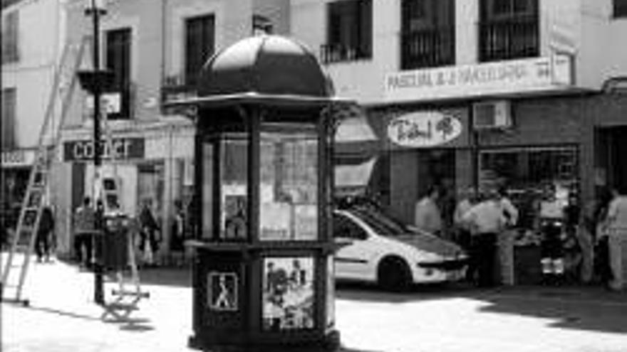
[[[479,59],[485,61],[538,56],[537,16],[517,16],[479,24]]]

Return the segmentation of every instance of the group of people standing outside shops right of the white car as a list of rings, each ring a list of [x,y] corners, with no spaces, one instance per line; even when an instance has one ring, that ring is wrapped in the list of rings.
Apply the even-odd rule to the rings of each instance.
[[[441,190],[431,187],[415,206],[415,225],[429,233],[447,237],[470,255],[467,279],[478,286],[497,284],[499,236],[515,228],[519,210],[503,187],[481,194],[473,188],[462,191],[452,215],[453,227],[445,228],[438,201]],[[627,190],[595,203],[593,210],[579,206],[576,193],[567,199],[557,196],[549,183],[534,203],[532,231],[539,234],[541,279],[561,283],[575,275],[582,282],[594,277],[611,289],[622,289],[627,276]]]

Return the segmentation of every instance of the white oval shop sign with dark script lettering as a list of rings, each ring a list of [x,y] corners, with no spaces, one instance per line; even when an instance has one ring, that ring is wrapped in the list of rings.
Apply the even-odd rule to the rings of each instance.
[[[461,134],[462,122],[452,114],[438,111],[404,114],[388,123],[388,138],[400,146],[439,146]]]

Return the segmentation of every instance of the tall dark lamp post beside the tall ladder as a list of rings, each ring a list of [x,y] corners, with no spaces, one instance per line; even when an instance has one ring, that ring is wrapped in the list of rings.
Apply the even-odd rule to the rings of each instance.
[[[81,71],[78,73],[78,79],[81,81],[83,89],[87,90],[93,95],[93,166],[94,166],[94,178],[95,182],[100,176],[100,165],[102,164],[100,154],[100,95],[105,87],[110,85],[113,79],[113,73],[106,70],[100,70],[100,16],[106,14],[104,8],[104,0],[86,0],[86,16],[91,16],[93,19],[93,70]],[[100,249],[102,243],[102,231],[103,231],[103,213],[96,209],[95,219],[95,235],[93,238],[93,250],[95,252],[95,260],[93,263],[94,270],[94,302],[97,304],[104,304],[104,283],[103,283],[103,264],[99,256],[102,253]]]

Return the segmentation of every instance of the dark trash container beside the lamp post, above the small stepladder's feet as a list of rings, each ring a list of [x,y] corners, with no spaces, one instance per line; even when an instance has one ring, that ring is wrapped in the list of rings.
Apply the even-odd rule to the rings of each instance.
[[[105,215],[103,236],[103,267],[107,271],[121,271],[128,267],[128,216]]]

